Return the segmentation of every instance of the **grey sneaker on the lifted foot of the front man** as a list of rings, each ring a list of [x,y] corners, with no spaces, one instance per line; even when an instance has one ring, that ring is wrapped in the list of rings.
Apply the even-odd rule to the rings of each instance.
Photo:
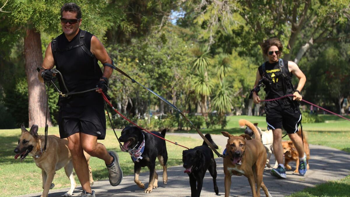
[[[112,186],[117,186],[120,184],[121,180],[123,180],[123,171],[121,171],[119,165],[119,157],[117,152],[108,151],[108,153],[114,158],[114,162],[110,165],[107,165],[109,171],[109,180]]]

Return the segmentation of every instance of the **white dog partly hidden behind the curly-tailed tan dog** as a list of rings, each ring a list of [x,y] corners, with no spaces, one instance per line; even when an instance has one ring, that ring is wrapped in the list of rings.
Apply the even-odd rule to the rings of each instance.
[[[272,150],[272,145],[273,145],[273,133],[272,130],[268,130],[268,131],[261,131],[261,129],[258,127],[258,123],[254,123],[255,128],[258,129],[259,134],[260,134],[260,138],[261,138],[261,142],[262,144],[264,144],[265,149],[266,149],[266,153],[267,153],[267,159],[266,159],[266,165],[267,167],[271,168],[271,164],[270,164],[270,157],[273,154],[273,150]],[[244,130],[245,134],[248,134],[250,137],[255,139],[255,134],[252,131],[252,129],[250,129],[249,127],[246,127]],[[275,167],[277,168],[278,163],[275,163]]]

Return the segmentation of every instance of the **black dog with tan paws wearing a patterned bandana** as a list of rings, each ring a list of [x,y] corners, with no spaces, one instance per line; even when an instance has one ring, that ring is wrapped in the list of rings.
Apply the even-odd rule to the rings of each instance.
[[[164,138],[166,131],[164,129],[161,133],[156,131],[152,131],[151,133]],[[129,152],[134,162],[134,182],[140,188],[145,188],[145,184],[139,180],[141,167],[147,166],[149,168],[149,184],[144,193],[151,193],[152,189],[158,187],[158,174],[155,172],[155,159],[157,157],[163,166],[163,183],[167,184],[168,182],[168,152],[166,143],[165,140],[154,135],[146,133],[135,126],[126,126],[121,131],[121,136],[119,137],[119,141],[124,142],[124,151]]]

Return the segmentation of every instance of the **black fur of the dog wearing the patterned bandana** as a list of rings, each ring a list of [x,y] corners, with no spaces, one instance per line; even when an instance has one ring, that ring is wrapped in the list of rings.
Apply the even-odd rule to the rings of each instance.
[[[119,140],[120,142],[127,142],[129,140],[132,140],[128,147],[138,147],[143,141],[142,133],[145,135],[145,150],[141,155],[142,159],[139,162],[134,162],[134,172],[139,172],[141,167],[147,166],[149,168],[149,182],[151,182],[151,180],[154,178],[155,159],[157,157],[159,158],[159,156],[162,156],[162,165],[166,166],[167,164],[168,152],[165,140],[162,140],[161,138],[156,137],[150,133],[146,133],[135,126],[126,126],[121,131]],[[151,133],[164,138],[166,129],[162,130],[161,133],[158,133],[156,131],[152,131]]]

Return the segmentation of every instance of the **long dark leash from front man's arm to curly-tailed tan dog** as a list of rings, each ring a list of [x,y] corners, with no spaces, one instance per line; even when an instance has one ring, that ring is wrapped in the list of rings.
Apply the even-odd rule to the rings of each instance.
[[[207,138],[205,138],[205,136],[202,134],[202,132],[201,132],[199,129],[197,129],[197,127],[196,127],[196,126],[181,112],[180,109],[178,109],[176,106],[174,106],[174,104],[170,103],[168,100],[164,99],[162,96],[158,95],[157,93],[155,93],[155,92],[152,91],[151,89],[146,88],[144,85],[142,85],[142,84],[140,84],[139,82],[137,82],[136,80],[132,79],[132,78],[131,78],[128,74],[126,74],[123,70],[120,70],[119,68],[113,66],[112,64],[108,64],[108,65],[106,65],[106,66],[109,66],[109,67],[113,68],[114,70],[117,70],[119,73],[121,73],[121,74],[123,74],[124,76],[128,77],[129,79],[131,79],[131,82],[139,84],[140,86],[142,86],[142,87],[145,88],[146,90],[150,91],[152,94],[156,95],[159,99],[161,99],[162,101],[164,101],[165,103],[167,103],[170,107],[172,107],[173,109],[175,109],[177,112],[179,112],[179,114],[181,114],[182,117],[184,117],[185,120],[186,120],[187,122],[189,122],[189,123],[192,125],[192,127],[193,127],[194,129],[196,129],[197,133],[203,138],[203,140],[205,141],[205,143],[208,144],[208,146],[215,152],[215,154],[216,154],[218,157],[222,157],[222,158],[225,157],[225,155],[220,154],[220,153],[214,148],[214,146],[208,141]]]

